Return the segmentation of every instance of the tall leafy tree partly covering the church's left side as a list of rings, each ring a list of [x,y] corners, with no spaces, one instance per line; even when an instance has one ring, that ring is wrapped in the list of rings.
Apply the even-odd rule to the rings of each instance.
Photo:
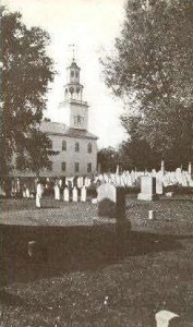
[[[1,175],[10,170],[36,173],[49,166],[50,141],[40,131],[53,62],[46,50],[47,32],[27,28],[19,12],[1,7]]]

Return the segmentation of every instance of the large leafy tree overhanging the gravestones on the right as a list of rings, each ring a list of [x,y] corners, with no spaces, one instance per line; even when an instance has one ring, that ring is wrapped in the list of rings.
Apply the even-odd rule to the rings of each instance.
[[[101,60],[131,138],[173,165],[193,160],[192,16],[192,0],[128,0],[114,55]]]

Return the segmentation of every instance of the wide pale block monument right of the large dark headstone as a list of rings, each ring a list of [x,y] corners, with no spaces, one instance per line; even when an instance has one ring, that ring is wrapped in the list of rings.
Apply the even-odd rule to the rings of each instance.
[[[156,178],[143,175],[141,178],[141,193],[137,195],[137,199],[153,201],[156,197]]]

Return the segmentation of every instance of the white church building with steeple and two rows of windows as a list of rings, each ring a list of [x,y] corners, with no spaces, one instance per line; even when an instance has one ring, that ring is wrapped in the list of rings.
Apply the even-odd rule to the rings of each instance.
[[[62,178],[88,175],[97,172],[97,136],[88,132],[88,105],[83,100],[83,85],[80,83],[80,71],[74,59],[67,69],[64,85],[63,113],[69,114],[69,125],[45,120],[40,130],[50,141],[52,150],[51,165],[39,172],[44,178]],[[38,155],[38,154],[37,154]],[[14,177],[35,177],[33,172],[13,171]]]

